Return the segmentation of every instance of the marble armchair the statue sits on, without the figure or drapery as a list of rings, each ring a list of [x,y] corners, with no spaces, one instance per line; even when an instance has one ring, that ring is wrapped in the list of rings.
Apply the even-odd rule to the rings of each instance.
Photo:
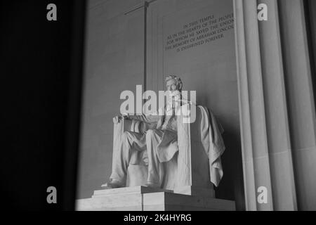
[[[188,107],[183,105],[182,107]],[[187,195],[205,195],[215,197],[210,179],[210,157],[202,143],[202,106],[196,107],[196,119],[193,123],[183,123],[184,115],[178,116],[178,153],[169,162],[163,162],[164,176],[161,176],[161,188],[174,193]],[[206,109],[207,110],[207,109]],[[205,112],[205,111],[204,111]],[[211,117],[209,117],[211,118]],[[137,120],[121,120],[121,129],[114,134],[114,142],[120,141],[124,131],[144,132],[153,129],[152,124]],[[126,187],[143,186],[147,179],[147,153],[143,153],[143,162],[129,165]]]

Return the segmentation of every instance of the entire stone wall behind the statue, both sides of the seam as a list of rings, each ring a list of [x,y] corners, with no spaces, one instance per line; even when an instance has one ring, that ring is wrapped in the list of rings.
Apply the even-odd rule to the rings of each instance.
[[[150,1],[146,17],[138,8],[141,2],[88,1],[77,198],[91,197],[110,176],[112,117],[119,113],[121,91],[136,91],[136,84],[163,90],[164,77],[176,74],[183,89],[197,91],[197,103],[210,108],[225,129],[224,176],[216,197],[236,200],[242,210],[232,0]]]

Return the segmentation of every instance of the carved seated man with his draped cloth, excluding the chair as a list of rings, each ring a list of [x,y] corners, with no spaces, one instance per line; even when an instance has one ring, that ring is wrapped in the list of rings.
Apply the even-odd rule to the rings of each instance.
[[[179,77],[171,75],[166,77],[166,90],[171,98],[164,106],[162,115],[119,115],[113,118],[114,122],[114,152],[112,162],[112,174],[110,181],[103,184],[106,188],[120,188],[126,186],[126,176],[129,165],[140,165],[145,162],[147,173],[144,179],[145,186],[152,188],[162,188],[162,176],[164,176],[164,162],[171,161],[179,151],[178,134],[180,132],[181,139],[189,139],[185,135],[185,129],[178,131],[177,110],[179,104],[173,101],[185,101],[181,96],[182,82]],[[188,102],[188,101],[187,101]],[[181,105],[181,104],[180,104]],[[220,127],[213,117],[212,113],[205,108],[200,108],[202,117],[202,125],[200,126],[201,145],[204,148],[204,158],[209,158],[209,173],[204,169],[205,174],[211,176],[211,182],[218,186],[218,183],[223,176],[223,169],[220,162],[220,155],[223,154],[225,146],[221,133],[223,129]],[[149,125],[149,129],[143,132],[117,131],[118,124],[122,120],[138,120]],[[121,135],[120,135],[121,134]],[[183,138],[184,137],[184,138]],[[184,142],[185,142],[184,141]],[[181,143],[183,146],[183,143]],[[185,150],[185,146],[183,150]],[[187,148],[189,149],[189,148]],[[199,162],[197,162],[197,165]],[[183,172],[178,172],[173,176],[187,176]],[[169,178],[170,179],[170,178]],[[171,177],[173,179],[173,177]],[[188,178],[184,177],[182,180]],[[176,181],[176,178],[174,178]],[[209,182],[211,184],[211,182]]]

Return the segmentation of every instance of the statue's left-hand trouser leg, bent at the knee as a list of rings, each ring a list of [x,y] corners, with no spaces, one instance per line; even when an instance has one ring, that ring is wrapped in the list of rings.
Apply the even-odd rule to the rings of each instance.
[[[146,136],[145,134],[125,131],[121,136],[116,158],[112,162],[110,179],[115,179],[123,184],[126,182],[127,168],[133,150],[146,150]]]

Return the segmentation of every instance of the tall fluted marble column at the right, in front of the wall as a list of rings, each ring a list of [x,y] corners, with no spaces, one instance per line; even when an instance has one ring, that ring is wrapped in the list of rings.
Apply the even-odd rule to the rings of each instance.
[[[267,21],[257,19],[261,3]],[[315,209],[315,105],[303,1],[234,0],[234,11],[246,210]],[[257,200],[261,186],[267,203]]]

